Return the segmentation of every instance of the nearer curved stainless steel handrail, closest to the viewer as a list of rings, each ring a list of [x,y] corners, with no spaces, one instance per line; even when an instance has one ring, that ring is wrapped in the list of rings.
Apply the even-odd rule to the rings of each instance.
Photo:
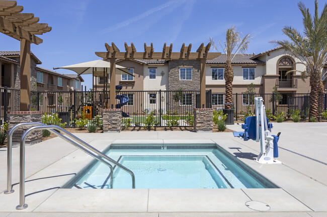
[[[105,159],[107,159],[110,162],[114,163],[116,166],[118,166],[121,169],[128,172],[132,176],[132,188],[135,188],[135,175],[134,175],[134,173],[131,170],[129,170],[128,168],[126,168],[125,166],[123,166],[120,163],[116,162],[115,160],[111,159],[107,155],[103,154],[102,152],[100,152],[96,148],[94,148],[91,145],[87,144],[86,142],[80,140],[79,138],[77,138],[76,136],[72,135],[71,133],[67,132],[66,130],[62,129],[59,126],[56,126],[56,125],[35,126],[35,127],[31,127],[30,129],[26,130],[24,132],[22,138],[21,138],[21,146],[20,146],[20,182],[19,182],[20,183],[20,186],[19,186],[20,187],[20,194],[19,194],[19,205],[16,206],[16,209],[24,209],[24,208],[28,207],[28,205],[25,203],[25,140],[26,140],[27,136],[31,132],[33,132],[35,130],[43,130],[43,129],[51,129],[52,132],[55,133],[57,136],[59,136],[59,137],[63,138],[64,140],[70,142],[71,144],[75,145],[76,147],[79,147],[81,150],[89,153],[91,156],[95,157],[96,159],[100,160],[101,162],[106,162],[105,160],[103,160],[99,156],[93,154],[92,152],[85,149],[84,147],[79,146],[77,143],[71,141],[70,139],[68,139],[67,137],[65,137],[64,135],[58,133],[55,130],[58,130],[58,131],[60,131],[60,132],[62,132],[64,134],[67,134],[67,135],[71,136],[72,138],[75,138],[78,141],[83,142],[88,148],[90,148],[91,150],[93,150],[97,154],[101,155]],[[109,163],[106,162],[106,164],[109,164]],[[112,173],[111,177],[113,177],[113,173]]]

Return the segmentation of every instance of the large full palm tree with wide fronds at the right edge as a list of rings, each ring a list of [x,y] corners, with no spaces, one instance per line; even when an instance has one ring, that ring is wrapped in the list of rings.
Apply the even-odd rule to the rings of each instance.
[[[300,64],[306,66],[304,71],[291,70],[288,73],[300,72],[303,81],[306,76],[309,77],[311,86],[309,116],[317,119],[319,115],[318,93],[321,92],[322,84],[322,65],[327,57],[327,4],[324,5],[320,16],[317,0],[314,1],[313,16],[303,3],[299,2],[297,5],[303,16],[303,34],[290,26],[286,26],[282,29],[282,32],[289,40],[271,41],[271,43],[281,46],[295,56]]]

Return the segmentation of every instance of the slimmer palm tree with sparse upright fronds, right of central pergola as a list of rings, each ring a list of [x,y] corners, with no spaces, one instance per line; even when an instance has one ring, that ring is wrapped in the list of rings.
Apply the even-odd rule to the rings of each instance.
[[[250,43],[250,39],[252,36],[247,34],[243,39],[240,37],[240,33],[236,30],[236,27],[231,27],[226,31],[226,41],[224,42],[224,46],[218,41],[221,49],[226,55],[226,65],[224,72],[225,79],[225,103],[233,102],[233,86],[232,82],[234,80],[234,72],[231,67],[231,62],[238,53],[245,53],[248,50],[248,45]],[[216,46],[214,40],[209,38],[212,47],[218,51],[218,47]],[[232,109],[231,105],[226,105],[226,109]]]

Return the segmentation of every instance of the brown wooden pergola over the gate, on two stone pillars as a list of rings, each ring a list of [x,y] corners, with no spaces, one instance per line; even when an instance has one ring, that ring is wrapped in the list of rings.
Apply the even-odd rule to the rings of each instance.
[[[162,52],[154,52],[153,45],[146,46],[144,43],[144,52],[137,52],[133,43],[131,46],[128,46],[125,43],[125,52],[120,52],[117,46],[114,43],[111,43],[109,46],[105,44],[107,52],[96,52],[96,55],[103,58],[104,60],[110,60],[110,84],[116,84],[116,70],[115,64],[116,60],[199,60],[200,61],[200,102],[204,108],[206,105],[206,79],[205,79],[205,67],[206,60],[211,60],[216,57],[219,57],[221,53],[209,53],[211,44],[208,43],[207,46],[204,46],[202,43],[196,52],[191,52],[192,44],[185,46],[183,43],[180,52],[172,52],[173,44],[166,46],[166,43],[163,45]],[[116,90],[115,85],[110,85],[110,105],[111,108],[114,108]]]

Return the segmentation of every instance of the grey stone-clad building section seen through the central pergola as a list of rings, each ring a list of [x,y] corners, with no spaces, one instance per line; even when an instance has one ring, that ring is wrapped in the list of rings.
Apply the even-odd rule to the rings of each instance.
[[[200,60],[171,60],[169,61],[168,90],[176,91],[182,88],[184,91],[200,90]],[[180,80],[180,68],[192,68],[192,80]],[[192,94],[192,106],[180,106],[179,102],[173,99],[174,93],[168,93],[167,110],[177,113],[192,113],[196,105],[195,92]],[[181,108],[182,107],[182,108]]]

